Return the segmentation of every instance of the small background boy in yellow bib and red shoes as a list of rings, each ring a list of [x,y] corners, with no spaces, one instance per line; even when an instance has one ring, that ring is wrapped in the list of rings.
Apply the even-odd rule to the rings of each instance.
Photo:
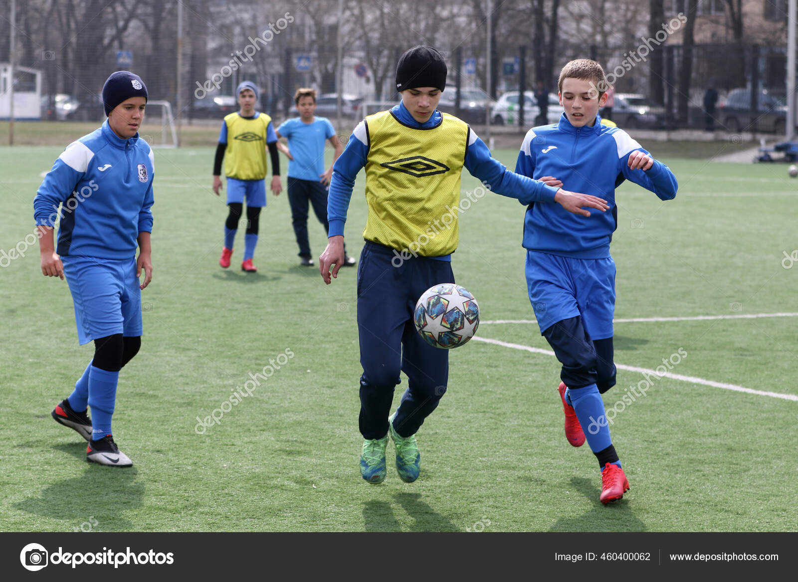
[[[227,220],[224,223],[224,247],[219,264],[230,267],[233,254],[235,231],[243,211],[243,201],[247,199],[247,233],[244,235],[243,271],[257,271],[252,264],[255,245],[258,244],[260,209],[266,206],[266,147],[271,156],[271,192],[278,196],[282,192],[280,184],[280,159],[277,154],[277,135],[271,124],[271,117],[255,111],[258,101],[258,88],[251,81],[243,81],[236,89],[241,109],[224,118],[219,131],[219,145],[213,163],[213,191],[219,196],[222,188],[222,160],[224,174],[227,176]]]

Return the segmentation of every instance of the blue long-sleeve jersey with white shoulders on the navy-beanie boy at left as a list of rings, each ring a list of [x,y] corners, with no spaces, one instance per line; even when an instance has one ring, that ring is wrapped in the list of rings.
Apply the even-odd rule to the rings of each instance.
[[[148,143],[137,133],[121,139],[106,120],[55,160],[36,192],[34,219],[54,227],[60,213],[59,255],[128,259],[139,233],[152,232],[153,175]]]

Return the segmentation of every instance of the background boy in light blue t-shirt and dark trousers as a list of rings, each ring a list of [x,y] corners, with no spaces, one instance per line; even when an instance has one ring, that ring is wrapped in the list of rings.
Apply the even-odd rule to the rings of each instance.
[[[327,189],[333,175],[333,166],[324,168],[324,146],[329,140],[335,148],[333,164],[338,160],[344,148],[335,135],[335,129],[326,117],[315,117],[315,89],[297,89],[294,94],[299,117],[283,121],[277,129],[277,137],[288,139],[288,148],[281,146],[281,151],[288,156],[288,202],[291,206],[291,219],[294,234],[299,245],[299,264],[313,267],[310,258],[310,243],[307,236],[307,212],[312,204],[318,221],[324,225],[325,232],[330,231],[327,222]],[[345,256],[344,263],[352,266],[355,259]]]

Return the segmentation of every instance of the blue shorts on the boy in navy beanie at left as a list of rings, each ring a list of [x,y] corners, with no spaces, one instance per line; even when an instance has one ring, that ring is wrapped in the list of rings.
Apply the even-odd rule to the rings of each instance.
[[[61,263],[75,303],[77,340],[81,346],[108,335],[135,338],[143,333],[135,258],[63,256]]]

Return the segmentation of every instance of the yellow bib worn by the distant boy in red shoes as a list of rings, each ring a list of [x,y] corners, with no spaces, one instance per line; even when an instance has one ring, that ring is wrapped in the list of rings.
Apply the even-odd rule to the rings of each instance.
[[[246,119],[238,113],[224,117],[227,148],[224,150],[224,175],[235,180],[263,180],[266,177],[266,133],[271,117],[260,113]]]

